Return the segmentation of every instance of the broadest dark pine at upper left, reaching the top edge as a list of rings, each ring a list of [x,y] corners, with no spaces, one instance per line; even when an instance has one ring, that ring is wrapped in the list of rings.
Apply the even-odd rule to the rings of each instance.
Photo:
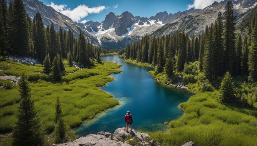
[[[13,53],[20,56],[29,55],[28,25],[26,9],[22,0],[13,1],[13,14],[11,18],[11,32]]]

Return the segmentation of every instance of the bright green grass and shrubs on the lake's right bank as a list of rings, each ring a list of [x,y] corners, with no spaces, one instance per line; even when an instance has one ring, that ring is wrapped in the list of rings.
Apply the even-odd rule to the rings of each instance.
[[[222,77],[208,85],[209,91],[199,90],[196,82],[203,80],[203,74],[194,66],[197,66],[197,62],[176,74],[183,76],[183,80],[188,82],[188,89],[196,93],[189,98],[188,102],[179,105],[185,112],[183,117],[169,122],[171,127],[169,133],[162,131],[147,133],[162,145],[177,146],[188,141],[193,141],[198,146],[256,145],[256,102],[252,108],[219,103],[219,92],[212,87],[212,84],[218,84]],[[155,74],[155,71],[149,71],[149,73],[163,84],[169,82],[164,72]],[[242,80],[245,80],[245,77],[234,77],[236,90],[248,94],[250,98],[256,85],[242,83]],[[199,84],[202,85],[202,83]]]

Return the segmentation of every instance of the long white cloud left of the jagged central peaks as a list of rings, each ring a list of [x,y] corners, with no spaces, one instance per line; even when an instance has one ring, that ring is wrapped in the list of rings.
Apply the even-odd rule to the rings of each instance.
[[[85,18],[86,16],[88,16],[88,14],[100,13],[104,9],[107,9],[105,6],[97,6],[97,7],[89,8],[84,4],[77,6],[72,10],[70,8],[67,8],[67,5],[57,5],[57,4],[51,3],[50,5],[47,5],[47,6],[53,7],[56,11],[62,13],[63,15],[68,16],[73,21],[79,21],[82,18]]]

